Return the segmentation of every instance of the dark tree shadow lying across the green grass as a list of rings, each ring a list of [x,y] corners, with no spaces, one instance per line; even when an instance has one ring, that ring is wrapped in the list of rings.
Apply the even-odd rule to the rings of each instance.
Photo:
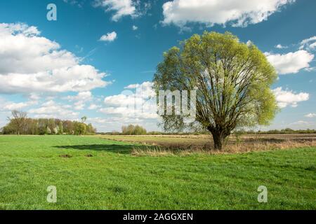
[[[54,146],[60,149],[74,149],[74,150],[92,150],[92,151],[105,151],[110,153],[130,154],[133,150],[133,145],[79,145],[79,146]]]

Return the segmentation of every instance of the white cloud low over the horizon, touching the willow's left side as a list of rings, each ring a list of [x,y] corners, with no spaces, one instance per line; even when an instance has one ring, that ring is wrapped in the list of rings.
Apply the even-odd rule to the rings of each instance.
[[[151,82],[128,85],[121,94],[105,97],[103,107],[98,109],[104,117],[89,118],[88,122],[96,124],[98,130],[119,131],[122,125],[129,124],[157,130],[156,100]]]

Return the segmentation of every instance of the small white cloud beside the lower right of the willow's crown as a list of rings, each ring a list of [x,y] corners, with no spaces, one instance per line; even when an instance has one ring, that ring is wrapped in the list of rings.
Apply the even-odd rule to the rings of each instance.
[[[275,94],[279,108],[296,107],[299,102],[308,101],[310,97],[310,94],[306,92],[295,93],[291,90],[282,90],[282,87],[277,87],[272,91]]]

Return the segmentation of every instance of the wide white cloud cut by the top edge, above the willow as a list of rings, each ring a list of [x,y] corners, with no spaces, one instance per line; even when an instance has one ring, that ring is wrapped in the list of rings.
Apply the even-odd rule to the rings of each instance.
[[[295,0],[173,0],[164,3],[164,24],[179,27],[188,22],[206,25],[225,25],[230,22],[236,27],[246,27],[267,20],[282,6]]]

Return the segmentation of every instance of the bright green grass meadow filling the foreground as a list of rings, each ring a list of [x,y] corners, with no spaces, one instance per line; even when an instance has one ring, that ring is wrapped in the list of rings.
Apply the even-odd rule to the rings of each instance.
[[[0,209],[316,209],[316,151],[133,156],[96,137],[0,136]],[[46,202],[56,186],[58,202]],[[268,203],[258,203],[258,186]]]

